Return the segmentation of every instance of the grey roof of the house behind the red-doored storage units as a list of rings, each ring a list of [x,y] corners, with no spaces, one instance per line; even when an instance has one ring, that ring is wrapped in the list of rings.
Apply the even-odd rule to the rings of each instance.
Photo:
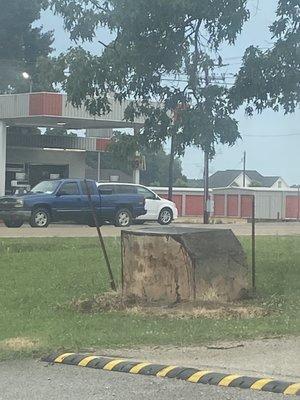
[[[220,188],[228,187],[233,184],[243,170],[227,169],[226,171],[217,171],[209,177],[209,187]],[[255,170],[246,170],[246,175],[251,181],[259,182],[263,187],[271,187],[280,178],[279,176],[263,176]],[[203,180],[200,182],[201,187],[204,186]]]

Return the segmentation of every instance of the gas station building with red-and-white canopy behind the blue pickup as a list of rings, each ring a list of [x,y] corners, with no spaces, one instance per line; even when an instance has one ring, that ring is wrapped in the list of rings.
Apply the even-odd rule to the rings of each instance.
[[[111,99],[111,112],[90,115],[83,107],[74,108],[60,93],[0,95],[0,196],[17,186],[33,186],[42,179],[84,178],[89,151],[105,151],[110,138],[92,132],[113,129],[141,129],[143,118],[124,120],[129,102]],[[63,127],[89,130],[89,137],[7,134],[7,127]],[[91,130],[91,131],[90,131]],[[107,135],[106,134],[106,135]]]

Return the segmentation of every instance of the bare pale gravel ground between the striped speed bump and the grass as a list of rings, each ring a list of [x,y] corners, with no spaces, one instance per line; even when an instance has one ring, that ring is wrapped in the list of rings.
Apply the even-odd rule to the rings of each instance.
[[[141,347],[96,353],[216,372],[300,381],[300,337],[214,342],[199,347]]]

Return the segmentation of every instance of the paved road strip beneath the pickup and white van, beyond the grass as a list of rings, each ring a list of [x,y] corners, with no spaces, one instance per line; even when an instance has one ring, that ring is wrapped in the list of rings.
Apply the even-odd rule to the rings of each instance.
[[[144,226],[157,224],[147,224]],[[181,224],[176,223],[176,226],[185,227],[198,227],[203,228],[201,224]],[[247,236],[251,235],[251,224],[237,223],[237,224],[220,224],[209,225],[211,229],[232,229],[236,235]],[[139,229],[139,226],[132,227],[132,229]],[[114,226],[102,227],[102,233],[105,237],[120,236],[121,229]],[[258,223],[256,228],[257,235],[300,235],[299,222],[274,222],[274,223]],[[0,224],[0,238],[2,237],[94,237],[97,236],[95,228],[89,228],[81,225],[50,225],[47,229],[33,229],[28,225],[24,225],[19,229],[9,229]]]

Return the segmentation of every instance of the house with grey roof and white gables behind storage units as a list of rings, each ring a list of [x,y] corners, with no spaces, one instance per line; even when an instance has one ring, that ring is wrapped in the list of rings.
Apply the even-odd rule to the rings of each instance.
[[[204,186],[203,180],[200,183]],[[226,187],[267,187],[272,189],[288,189],[289,185],[280,176],[263,176],[258,171],[245,171],[245,185],[243,170],[227,169],[217,171],[209,177],[210,188]]]

